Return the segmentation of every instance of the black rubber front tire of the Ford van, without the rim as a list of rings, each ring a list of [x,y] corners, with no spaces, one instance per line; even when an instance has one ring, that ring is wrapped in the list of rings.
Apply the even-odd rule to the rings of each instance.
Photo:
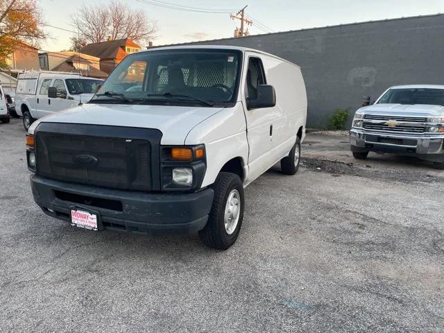
[[[244,219],[244,185],[241,178],[234,173],[221,172],[217,176],[212,188],[214,189],[213,204],[208,217],[207,225],[200,230],[200,240],[210,248],[227,250],[236,241]],[[225,206],[228,196],[237,190],[239,194],[239,219],[235,229],[228,234],[225,229]],[[234,226],[234,225],[233,225]]]

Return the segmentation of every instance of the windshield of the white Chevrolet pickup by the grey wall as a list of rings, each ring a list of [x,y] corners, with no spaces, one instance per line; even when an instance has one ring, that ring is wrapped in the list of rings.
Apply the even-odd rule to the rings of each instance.
[[[411,88],[389,89],[378,104],[428,104],[444,106],[444,89]]]

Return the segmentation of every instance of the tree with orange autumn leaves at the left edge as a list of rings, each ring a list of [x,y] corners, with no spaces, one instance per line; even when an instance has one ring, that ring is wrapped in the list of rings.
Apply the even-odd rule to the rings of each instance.
[[[33,46],[47,35],[36,0],[0,0],[0,66],[5,67],[17,42]]]

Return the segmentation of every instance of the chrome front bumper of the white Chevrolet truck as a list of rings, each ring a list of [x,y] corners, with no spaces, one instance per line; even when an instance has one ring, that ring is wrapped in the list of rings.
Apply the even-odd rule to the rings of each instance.
[[[352,151],[377,151],[416,155],[422,160],[444,162],[444,135],[405,135],[371,130],[350,130]]]

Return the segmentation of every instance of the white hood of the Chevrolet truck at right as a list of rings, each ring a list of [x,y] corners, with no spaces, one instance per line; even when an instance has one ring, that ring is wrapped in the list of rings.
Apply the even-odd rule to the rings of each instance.
[[[360,108],[359,112],[366,114],[386,114],[397,115],[409,114],[411,116],[416,115],[418,117],[431,117],[444,115],[444,106],[441,105],[427,105],[427,104],[374,104]]]

